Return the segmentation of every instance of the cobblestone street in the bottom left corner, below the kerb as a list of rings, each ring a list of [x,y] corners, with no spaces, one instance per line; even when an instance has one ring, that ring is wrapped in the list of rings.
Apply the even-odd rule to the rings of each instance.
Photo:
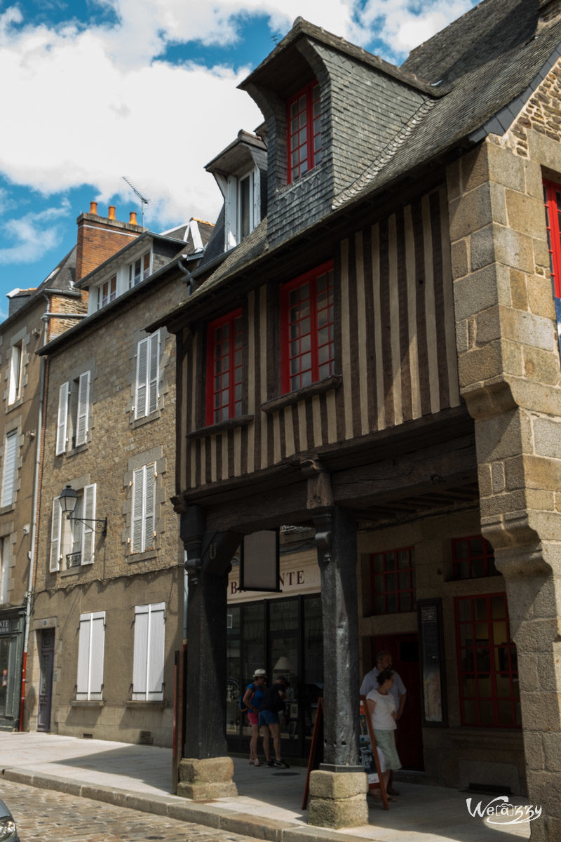
[[[13,813],[21,842],[249,842],[250,837],[113,807],[89,798],[2,781],[0,796]]]

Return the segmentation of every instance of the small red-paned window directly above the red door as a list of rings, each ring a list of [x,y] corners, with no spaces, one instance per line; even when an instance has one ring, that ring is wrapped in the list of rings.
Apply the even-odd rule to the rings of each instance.
[[[412,546],[370,556],[372,613],[396,614],[415,609],[415,553]]]

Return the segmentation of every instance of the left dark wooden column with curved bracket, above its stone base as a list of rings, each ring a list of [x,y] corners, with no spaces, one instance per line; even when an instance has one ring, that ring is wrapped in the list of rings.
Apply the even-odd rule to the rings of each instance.
[[[188,559],[187,727],[183,757],[227,754],[226,599],[230,560],[241,536],[205,532],[204,511],[182,514],[181,536]]]

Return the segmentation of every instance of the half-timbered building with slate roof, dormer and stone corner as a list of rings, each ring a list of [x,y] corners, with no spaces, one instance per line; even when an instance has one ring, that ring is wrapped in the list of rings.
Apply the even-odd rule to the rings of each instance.
[[[216,666],[188,683],[183,794],[231,791],[204,723],[225,723],[227,681],[278,666],[286,617],[235,623],[230,562],[299,525],[323,616],[310,823],[368,821],[358,689],[389,648],[405,764],[527,791],[532,839],[561,837],[560,55],[558,0],[484,0],[402,67],[298,19],[241,84],[266,118],[267,216],[151,324],[177,334],[183,384],[188,670]],[[286,754],[317,667],[299,633]]]

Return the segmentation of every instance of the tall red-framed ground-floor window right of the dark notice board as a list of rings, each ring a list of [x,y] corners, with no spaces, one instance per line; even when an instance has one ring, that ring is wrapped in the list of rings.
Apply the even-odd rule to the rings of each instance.
[[[521,727],[506,594],[458,596],[455,610],[462,724]]]

